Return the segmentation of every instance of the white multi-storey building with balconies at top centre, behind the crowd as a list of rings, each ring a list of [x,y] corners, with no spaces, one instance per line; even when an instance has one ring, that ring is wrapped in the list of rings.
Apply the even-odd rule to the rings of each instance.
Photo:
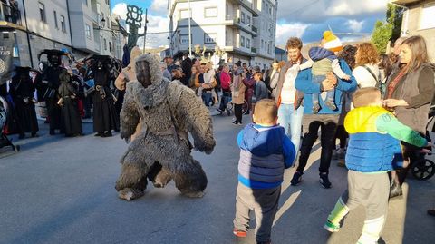
[[[266,69],[275,58],[276,5],[271,0],[169,0],[170,54],[189,52],[190,7],[192,52],[196,44],[210,52],[218,45],[227,63],[240,60]]]

